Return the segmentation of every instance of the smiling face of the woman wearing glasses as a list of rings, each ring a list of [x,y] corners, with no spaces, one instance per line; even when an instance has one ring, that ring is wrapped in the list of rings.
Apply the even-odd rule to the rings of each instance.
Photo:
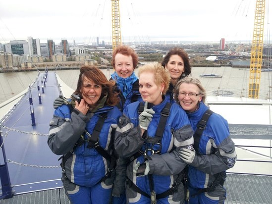
[[[188,111],[194,112],[197,109],[198,102],[202,100],[202,96],[199,94],[199,88],[195,84],[182,83],[179,86],[178,93],[186,93],[185,96],[178,95],[177,99],[181,107]],[[189,96],[189,93],[195,93],[198,96]]]

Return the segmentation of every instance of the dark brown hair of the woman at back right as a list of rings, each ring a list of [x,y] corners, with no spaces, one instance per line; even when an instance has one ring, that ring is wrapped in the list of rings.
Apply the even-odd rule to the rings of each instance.
[[[162,61],[163,67],[165,68],[165,65],[168,63],[168,61],[172,55],[180,56],[184,62],[184,72],[183,72],[184,75],[181,75],[179,77],[179,79],[182,79],[185,76],[189,76],[191,74],[192,67],[190,65],[188,54],[182,48],[174,47],[170,51],[168,51],[168,53],[164,56],[163,61]]]

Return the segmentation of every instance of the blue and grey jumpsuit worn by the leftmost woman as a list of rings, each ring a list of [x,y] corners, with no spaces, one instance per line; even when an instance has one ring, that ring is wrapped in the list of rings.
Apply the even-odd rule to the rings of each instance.
[[[50,122],[48,145],[57,155],[72,151],[76,142],[83,134],[88,139],[84,130],[91,135],[100,117],[100,113],[107,114],[99,135],[99,143],[103,149],[112,154],[113,133],[121,112],[116,106],[104,106],[94,113],[82,114],[77,109],[71,112],[68,105],[61,105],[54,111]],[[63,187],[73,204],[109,204],[114,172],[105,181],[100,180],[107,174],[109,160],[105,159],[94,148],[87,148],[85,142],[77,146],[73,154],[65,162],[65,175],[62,174]]]

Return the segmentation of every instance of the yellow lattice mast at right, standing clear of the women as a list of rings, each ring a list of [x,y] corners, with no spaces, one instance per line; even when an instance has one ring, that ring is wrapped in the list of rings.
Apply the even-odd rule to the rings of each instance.
[[[254,32],[251,48],[249,98],[258,99],[263,59],[263,37],[266,0],[257,0],[255,9]]]

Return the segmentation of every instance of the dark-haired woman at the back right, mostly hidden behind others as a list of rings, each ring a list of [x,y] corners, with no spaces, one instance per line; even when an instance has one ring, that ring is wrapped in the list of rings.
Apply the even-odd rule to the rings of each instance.
[[[169,71],[171,76],[171,81],[165,97],[168,102],[173,103],[175,102],[173,99],[173,89],[176,83],[180,79],[191,75],[192,68],[189,56],[182,48],[174,47],[163,57],[162,65]]]

